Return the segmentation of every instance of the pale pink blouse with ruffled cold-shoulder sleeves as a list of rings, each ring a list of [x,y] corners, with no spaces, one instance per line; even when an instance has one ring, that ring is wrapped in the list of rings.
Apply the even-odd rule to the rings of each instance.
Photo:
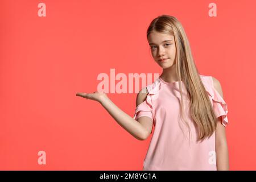
[[[222,125],[228,124],[228,106],[214,89],[211,76],[200,75],[207,90],[216,117],[221,117]],[[187,90],[181,81],[185,108],[189,100]],[[165,82],[158,77],[146,86],[146,100],[135,109],[134,119],[150,117],[154,123],[154,132],[143,162],[143,170],[216,170],[215,133],[203,142],[197,142],[196,127],[189,111],[184,111],[191,129],[180,120],[179,82]],[[152,133],[152,131],[151,131]],[[184,133],[184,134],[183,134]]]

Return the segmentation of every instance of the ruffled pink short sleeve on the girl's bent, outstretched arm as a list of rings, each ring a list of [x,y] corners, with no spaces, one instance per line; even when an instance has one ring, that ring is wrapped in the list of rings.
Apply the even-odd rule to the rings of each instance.
[[[133,119],[137,120],[143,116],[147,116],[153,120],[150,94],[147,94],[146,100],[136,107]]]

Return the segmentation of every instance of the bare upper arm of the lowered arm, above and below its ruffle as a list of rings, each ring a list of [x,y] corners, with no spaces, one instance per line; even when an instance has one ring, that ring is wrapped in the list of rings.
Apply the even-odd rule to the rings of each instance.
[[[217,92],[220,94],[222,98],[223,97],[223,92],[221,88],[220,81],[218,81],[216,78],[213,78],[213,86],[217,90]],[[225,126],[222,125],[221,123],[221,118],[217,118],[217,126],[216,126],[216,131],[215,131],[215,140],[216,140],[216,145],[218,146],[219,144],[226,144],[226,130]]]

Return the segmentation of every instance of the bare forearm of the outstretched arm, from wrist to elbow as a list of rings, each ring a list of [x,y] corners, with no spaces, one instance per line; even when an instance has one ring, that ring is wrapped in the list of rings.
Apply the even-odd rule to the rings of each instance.
[[[100,104],[108,111],[115,121],[128,131],[133,137],[143,140],[148,132],[138,121],[131,118],[130,115],[123,112],[108,97],[104,97]]]

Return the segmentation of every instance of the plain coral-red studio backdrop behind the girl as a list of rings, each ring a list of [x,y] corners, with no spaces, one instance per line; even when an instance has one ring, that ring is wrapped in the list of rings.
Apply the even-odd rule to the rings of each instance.
[[[46,17],[38,4],[46,4]],[[217,17],[208,15],[216,3]],[[202,75],[216,77],[228,104],[231,170],[256,169],[255,1],[0,1],[0,169],[141,170],[140,141],[98,102],[97,76],[161,73],[146,30],[176,16]],[[118,82],[118,81],[117,81]],[[116,82],[116,83],[117,83]],[[137,93],[109,93],[131,117]],[[46,151],[46,165],[38,152]]]

